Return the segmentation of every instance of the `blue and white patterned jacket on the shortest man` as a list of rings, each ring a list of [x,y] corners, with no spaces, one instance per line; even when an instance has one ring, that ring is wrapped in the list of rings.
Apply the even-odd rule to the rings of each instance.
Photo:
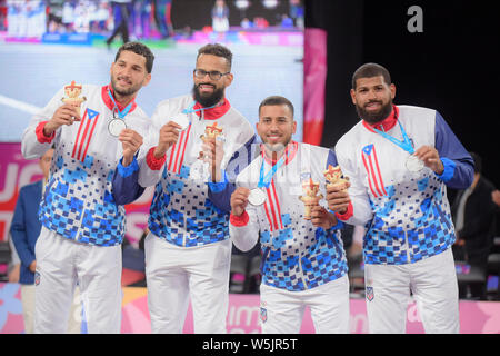
[[[271,164],[263,155],[241,171],[237,186],[256,188],[262,165],[267,174]],[[242,215],[248,220],[231,216],[230,235],[239,249],[251,249],[260,236],[263,284],[291,291],[304,290],[347,274],[341,222],[328,230],[314,227],[311,220],[304,219],[304,205],[300,200],[302,182],[309,178],[320,182],[320,194],[326,197],[323,171],[328,165],[337,166],[333,151],[290,144],[284,165],[266,189],[266,202],[258,207],[249,204]],[[326,206],[324,200],[322,205]]]

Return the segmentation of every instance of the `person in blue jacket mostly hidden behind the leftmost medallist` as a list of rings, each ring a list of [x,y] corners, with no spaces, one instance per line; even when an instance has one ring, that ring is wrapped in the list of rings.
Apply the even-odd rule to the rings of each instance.
[[[19,280],[10,279],[14,276],[9,275],[9,281],[19,281],[21,284],[22,316],[24,319],[26,334],[33,333],[33,313],[34,313],[34,268],[37,258],[34,256],[34,245],[41,230],[41,222],[38,219],[38,208],[44,187],[49,179],[50,162],[52,161],[53,148],[49,149],[40,158],[40,168],[43,172],[43,179],[22,187],[19,191],[19,198],[16,204],[16,210],[10,227],[10,235],[14,249],[12,250],[13,260],[20,260]],[[17,264],[14,263],[14,266]],[[17,267],[14,267],[17,268]],[[16,270],[16,269],[14,269]],[[81,322],[76,318],[74,298],[68,332],[71,334],[80,333]]]

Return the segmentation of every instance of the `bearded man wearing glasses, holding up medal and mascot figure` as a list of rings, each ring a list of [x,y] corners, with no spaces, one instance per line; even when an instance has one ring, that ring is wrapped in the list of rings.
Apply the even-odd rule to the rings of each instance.
[[[221,44],[200,48],[192,93],[158,105],[146,160],[124,167],[124,175],[119,170],[113,180],[122,202],[156,185],[144,241],[153,333],[182,333],[189,297],[196,333],[226,333],[233,190],[226,168],[240,148],[247,164],[254,140],[250,122],[224,96],[233,79],[231,62],[231,51]]]

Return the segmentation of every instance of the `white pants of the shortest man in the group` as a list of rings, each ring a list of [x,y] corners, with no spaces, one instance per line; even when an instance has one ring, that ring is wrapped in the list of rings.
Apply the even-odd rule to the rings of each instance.
[[[317,334],[348,334],[349,279],[346,276],[319,287],[290,291],[260,286],[262,334],[298,334],[306,307]]]

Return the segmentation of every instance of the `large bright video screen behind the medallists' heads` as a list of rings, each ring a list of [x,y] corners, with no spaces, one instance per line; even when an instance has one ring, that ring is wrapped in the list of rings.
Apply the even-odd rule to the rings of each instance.
[[[233,52],[231,105],[256,122],[263,98],[284,96],[296,107],[294,139],[302,139],[300,1],[0,0],[0,142],[20,141],[31,116],[72,80],[107,85],[127,34],[109,46],[107,39],[123,27],[156,56],[152,80],[137,98],[149,116],[161,100],[191,91],[198,49],[219,42]]]

